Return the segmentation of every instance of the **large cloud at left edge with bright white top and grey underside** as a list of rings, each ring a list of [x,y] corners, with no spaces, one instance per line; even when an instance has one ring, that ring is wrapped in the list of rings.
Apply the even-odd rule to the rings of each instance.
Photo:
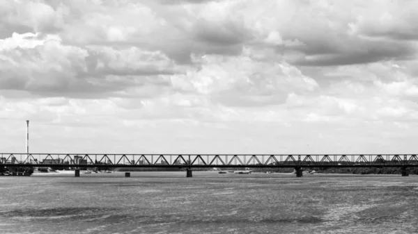
[[[159,51],[75,47],[53,35],[14,33],[0,40],[0,48],[0,89],[40,95],[103,95],[133,84],[164,85],[158,75],[176,70],[175,63]]]

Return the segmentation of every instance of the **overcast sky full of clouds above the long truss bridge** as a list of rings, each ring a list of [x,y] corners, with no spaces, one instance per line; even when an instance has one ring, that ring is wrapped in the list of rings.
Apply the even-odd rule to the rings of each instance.
[[[418,2],[0,1],[0,152],[417,153]]]

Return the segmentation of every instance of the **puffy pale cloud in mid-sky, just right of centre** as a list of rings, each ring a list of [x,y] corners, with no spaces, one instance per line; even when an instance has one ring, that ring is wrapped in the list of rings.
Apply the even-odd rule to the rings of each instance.
[[[318,84],[286,63],[260,62],[249,56],[203,56],[201,66],[171,77],[183,92],[208,95],[227,106],[283,103],[289,91],[314,92]]]

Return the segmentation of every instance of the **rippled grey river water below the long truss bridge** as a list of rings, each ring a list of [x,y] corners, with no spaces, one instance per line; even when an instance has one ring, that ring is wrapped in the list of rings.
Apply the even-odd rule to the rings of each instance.
[[[0,233],[418,233],[418,176],[0,177]]]

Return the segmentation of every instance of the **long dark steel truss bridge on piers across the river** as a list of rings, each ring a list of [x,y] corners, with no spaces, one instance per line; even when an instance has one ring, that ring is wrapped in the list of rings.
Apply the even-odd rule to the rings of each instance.
[[[106,154],[106,153],[0,153],[3,167],[177,167],[265,168],[293,167],[296,176],[312,167],[418,167],[415,154]],[[77,176],[77,169],[76,169]]]

